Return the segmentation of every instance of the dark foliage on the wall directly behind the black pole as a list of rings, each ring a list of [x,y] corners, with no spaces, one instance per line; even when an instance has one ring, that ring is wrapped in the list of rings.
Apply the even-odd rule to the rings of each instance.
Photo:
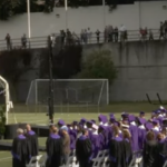
[[[56,51],[55,51],[56,50]],[[80,71],[82,47],[80,45],[53,48],[53,78],[71,78]],[[40,77],[49,77],[49,50],[45,49],[40,53]]]

